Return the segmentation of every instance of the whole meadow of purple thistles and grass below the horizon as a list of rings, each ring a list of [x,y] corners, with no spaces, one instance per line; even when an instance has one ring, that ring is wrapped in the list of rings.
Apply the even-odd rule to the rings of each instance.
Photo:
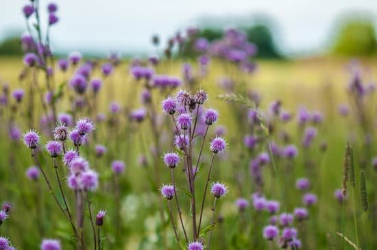
[[[56,58],[48,12],[0,58],[0,250],[377,247],[376,60]]]

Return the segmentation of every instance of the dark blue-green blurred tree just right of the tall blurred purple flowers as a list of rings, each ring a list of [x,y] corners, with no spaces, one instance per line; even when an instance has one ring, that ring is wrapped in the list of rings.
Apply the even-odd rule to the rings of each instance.
[[[273,42],[271,29],[267,25],[258,24],[244,28],[247,40],[253,42],[258,48],[256,58],[276,59],[282,58]]]

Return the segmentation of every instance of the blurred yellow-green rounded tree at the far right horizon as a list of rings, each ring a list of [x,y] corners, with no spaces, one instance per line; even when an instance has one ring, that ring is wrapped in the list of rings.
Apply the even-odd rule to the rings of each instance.
[[[376,53],[376,33],[372,21],[350,20],[341,25],[333,53],[336,55],[372,55]]]

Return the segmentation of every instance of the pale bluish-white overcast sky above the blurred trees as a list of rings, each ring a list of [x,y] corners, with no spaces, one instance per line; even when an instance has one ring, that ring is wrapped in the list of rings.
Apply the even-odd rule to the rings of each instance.
[[[5,0],[1,0],[5,1]],[[40,0],[42,7],[48,1]],[[62,51],[151,51],[151,34],[165,38],[195,25],[199,17],[264,13],[278,29],[278,43],[288,53],[316,50],[328,40],[339,15],[367,11],[376,16],[377,0],[55,0],[60,23],[53,45]],[[23,31],[26,0],[9,0],[0,8],[0,40]]]

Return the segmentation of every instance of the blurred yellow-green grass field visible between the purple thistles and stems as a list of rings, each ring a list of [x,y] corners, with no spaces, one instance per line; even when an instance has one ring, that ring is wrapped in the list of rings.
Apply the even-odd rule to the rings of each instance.
[[[26,88],[30,84],[29,79],[23,81],[19,80],[19,73],[22,69],[21,58],[1,58],[0,59],[0,83],[9,83],[10,89]],[[157,68],[158,73],[169,73],[171,75],[181,75],[182,61],[167,61],[162,62]],[[193,62],[195,64],[196,62]],[[304,249],[331,249],[330,245],[335,245],[335,249],[352,249],[347,244],[344,245],[339,236],[335,233],[339,232],[341,226],[341,205],[335,200],[333,193],[336,188],[341,188],[343,178],[343,154],[345,142],[352,139],[355,148],[356,161],[360,160],[363,153],[364,146],[362,138],[359,137],[360,126],[356,123],[352,115],[348,117],[341,117],[338,114],[339,103],[349,103],[350,99],[347,95],[346,86],[350,81],[350,74],[347,70],[348,60],[336,58],[316,58],[308,60],[292,60],[292,61],[258,61],[258,68],[256,73],[247,75],[236,71],[232,65],[225,65],[223,62],[213,60],[208,68],[208,75],[199,80],[193,88],[204,88],[208,91],[210,101],[207,107],[217,108],[221,114],[219,124],[224,125],[227,130],[226,138],[229,138],[229,153],[223,156],[223,159],[216,159],[214,176],[212,179],[219,179],[226,182],[230,188],[229,195],[220,201],[220,213],[225,217],[224,225],[221,225],[215,231],[213,249],[227,249],[223,248],[223,240],[227,242],[239,241],[242,239],[232,238],[234,232],[239,229],[234,218],[237,218],[237,211],[234,201],[237,197],[250,197],[253,192],[252,185],[250,184],[250,176],[248,171],[248,164],[250,157],[254,152],[241,152],[242,138],[247,132],[246,124],[239,124],[240,121],[236,119],[234,114],[233,104],[226,101],[217,99],[217,96],[223,94],[224,90],[221,89],[217,82],[220,77],[230,76],[236,79],[236,84],[244,86],[247,90],[258,91],[262,97],[260,108],[266,110],[269,103],[276,99],[282,100],[282,107],[284,110],[289,110],[293,114],[297,112],[298,108],[306,107],[308,110],[320,110],[325,114],[325,121],[317,127],[318,136],[315,138],[314,145],[308,149],[306,154],[299,153],[295,159],[294,168],[288,173],[285,165],[287,162],[284,160],[277,160],[277,168],[279,172],[279,179],[281,190],[278,190],[276,185],[276,177],[271,169],[264,170],[265,176],[265,195],[271,199],[280,199],[280,192],[284,197],[284,202],[287,211],[292,211],[293,208],[301,204],[301,193],[295,189],[295,179],[297,177],[308,177],[313,183],[312,192],[315,192],[319,197],[319,203],[311,208],[311,219],[305,225],[306,240]],[[366,68],[365,81],[373,82],[377,79],[377,60],[362,60],[361,64]],[[56,76],[55,84],[58,86],[61,82],[69,79],[71,73],[62,75],[58,73]],[[93,73],[94,76],[100,76],[98,71]],[[41,77],[41,76],[40,76]],[[112,101],[117,101],[123,108],[130,107],[132,109],[141,106],[139,104],[139,95],[141,92],[141,84],[135,82],[129,73],[128,63],[120,64],[117,71],[105,80],[106,88],[99,95],[99,112],[104,112],[110,116],[108,106]],[[64,95],[65,92],[64,92]],[[156,110],[160,108],[160,100],[166,93],[154,92],[154,104]],[[374,94],[375,95],[375,94]],[[36,105],[40,105],[36,99]],[[38,104],[39,103],[39,104]],[[371,123],[375,126],[374,114],[376,114],[376,102],[372,99],[367,100],[367,112],[371,117]],[[16,123],[21,127],[23,132],[27,128],[23,116],[27,110],[27,102],[23,102],[22,108],[17,110]],[[351,104],[352,106],[352,104]],[[66,112],[69,110],[69,103],[65,100],[58,103],[58,111]],[[38,110],[38,114],[41,114]],[[8,117],[9,110],[2,110],[3,118]],[[84,114],[83,114],[84,115]],[[143,125],[127,125],[126,114],[121,116],[121,125],[114,130],[106,129],[106,123],[97,126],[97,142],[108,147],[108,153],[105,158],[96,159],[93,156],[93,144],[89,144],[84,149],[84,155],[88,156],[90,164],[101,174],[101,188],[103,190],[111,190],[110,183],[112,182],[110,176],[109,162],[114,159],[124,160],[127,164],[127,171],[121,177],[121,203],[123,231],[122,237],[125,238],[125,245],[119,249],[157,249],[154,244],[157,242],[158,234],[158,210],[157,198],[153,192],[150,191],[147,182],[147,174],[145,170],[138,166],[138,156],[141,152],[149,152],[149,145],[152,142],[151,130],[147,122]],[[293,119],[295,120],[295,119]],[[38,124],[37,120],[35,124]],[[0,201],[11,201],[14,203],[14,210],[11,214],[11,219],[0,227],[0,234],[6,234],[12,239],[14,245],[19,246],[19,249],[38,249],[40,240],[38,239],[39,233],[35,229],[38,223],[38,188],[45,190],[43,192],[42,204],[44,208],[42,217],[49,223],[45,223],[45,234],[47,237],[58,237],[61,239],[68,238],[66,231],[69,230],[69,225],[62,221],[62,216],[59,211],[53,207],[52,199],[49,197],[45,183],[39,184],[31,183],[25,177],[25,169],[32,164],[32,159],[29,158],[29,151],[20,143],[10,143],[8,140],[8,131],[6,124],[0,125],[1,127],[1,142],[0,151],[3,155],[3,160],[0,161],[0,183],[1,190]],[[241,130],[243,129],[243,130]],[[300,145],[301,137],[298,135],[298,128],[295,121],[289,124],[278,125],[278,130],[271,134],[271,140],[278,142],[282,141],[279,132],[287,132],[289,141]],[[165,129],[163,132],[167,132]],[[162,132],[162,133],[163,133]],[[109,134],[110,133],[110,134]],[[213,131],[210,132],[211,136]],[[47,138],[47,136],[45,136]],[[164,137],[164,148],[162,152],[169,151],[169,136]],[[374,137],[375,138],[375,137]],[[328,150],[321,153],[321,142],[326,142]],[[260,146],[260,150],[264,146]],[[376,145],[374,145],[376,152]],[[237,151],[238,150],[238,151]],[[250,153],[250,155],[247,155]],[[242,158],[239,158],[243,155]],[[372,155],[371,155],[372,156]],[[205,158],[209,154],[204,155]],[[151,161],[151,153],[147,153],[147,158]],[[315,162],[312,169],[304,168],[305,160],[313,160]],[[49,158],[42,159],[46,165],[49,165]],[[369,160],[369,159],[368,159]],[[14,169],[9,169],[11,168]],[[359,166],[356,166],[357,170]],[[165,172],[165,168],[161,168],[162,182],[169,182],[169,173]],[[368,176],[368,190],[370,197],[374,197],[374,189],[376,180],[376,173],[372,168],[367,170]],[[51,167],[51,175],[52,175]],[[237,188],[237,181],[235,173],[241,174],[241,181],[245,183],[243,189]],[[178,177],[183,179],[182,176]],[[201,176],[204,179],[204,176]],[[40,179],[42,181],[42,179]],[[204,188],[204,182],[199,183],[199,190]],[[112,204],[114,197],[107,195],[106,192],[98,192],[93,194],[93,208],[95,211],[100,208],[106,208],[111,214],[113,208],[109,207]],[[184,195],[180,194],[181,199]],[[71,197],[72,198],[72,197]],[[359,196],[356,194],[356,199]],[[347,201],[345,205],[345,229],[343,233],[354,241],[354,227],[352,224],[352,204]],[[25,203],[23,203],[25,202]],[[208,200],[208,206],[211,201]],[[358,209],[357,219],[359,227],[359,238],[362,249],[375,249],[377,241],[369,235],[372,231],[372,221],[374,219],[376,201],[371,202],[371,208],[367,213],[361,212]],[[32,205],[34,204],[34,205]],[[359,204],[359,203],[358,203]],[[187,210],[187,208],[184,208]],[[51,212],[52,211],[52,212]],[[371,212],[372,211],[372,212]],[[205,221],[208,223],[210,211],[206,212]],[[252,214],[248,215],[248,220],[252,221]],[[369,219],[368,219],[369,217]],[[106,221],[104,234],[107,238],[105,249],[114,247],[114,233],[112,232],[112,219]],[[255,228],[252,225],[250,235],[243,235],[241,238],[253,238],[262,236],[262,226],[267,224],[268,216],[263,215],[260,218],[259,227]],[[88,226],[88,225],[87,225]],[[230,228],[232,232],[224,232],[224,228]],[[365,230],[365,231],[364,231]],[[172,231],[172,230],[170,230]],[[20,234],[22,232],[22,234]],[[109,233],[107,233],[109,232]],[[249,233],[250,233],[249,232]],[[169,234],[173,240],[173,232]],[[233,242],[234,243],[234,242]],[[257,242],[258,248],[266,249],[261,240]],[[26,246],[32,246],[25,248]],[[111,246],[111,247],[110,247]],[[174,246],[174,245],[173,245]],[[342,247],[343,246],[343,247]],[[244,249],[243,247],[233,244],[234,248],[229,249]],[[65,249],[69,248],[69,245]],[[171,249],[175,249],[171,247]]]

